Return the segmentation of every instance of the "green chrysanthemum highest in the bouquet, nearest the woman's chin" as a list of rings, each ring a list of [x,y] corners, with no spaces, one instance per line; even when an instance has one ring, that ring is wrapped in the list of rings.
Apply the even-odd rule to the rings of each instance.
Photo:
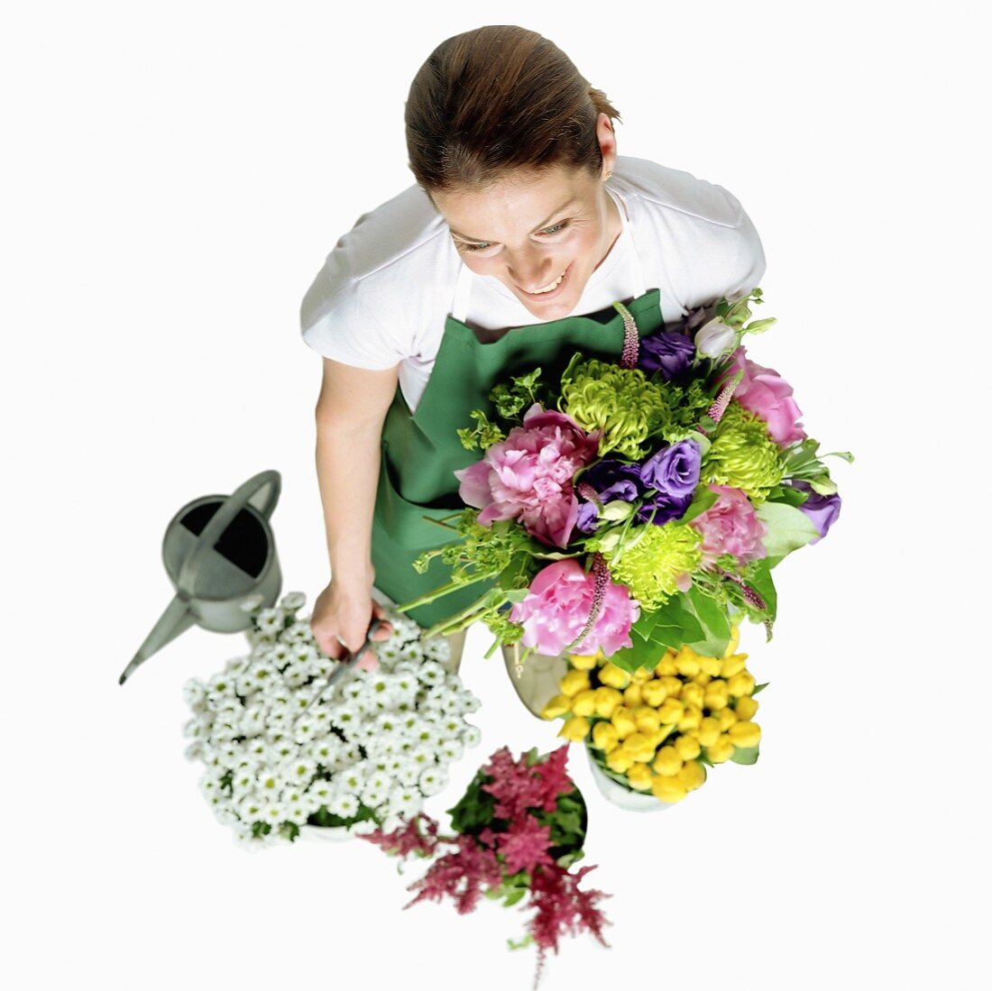
[[[636,460],[645,443],[669,420],[661,390],[637,368],[590,358],[570,366],[561,380],[559,409],[584,431],[602,431],[600,456],[615,450]]]

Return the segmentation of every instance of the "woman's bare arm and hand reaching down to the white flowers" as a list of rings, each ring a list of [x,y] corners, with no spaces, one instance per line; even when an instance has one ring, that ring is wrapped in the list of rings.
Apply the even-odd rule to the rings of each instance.
[[[337,637],[355,649],[372,616],[381,615],[371,594],[372,514],[382,426],[398,375],[398,365],[370,371],[323,359],[315,411],[316,470],[331,580],[314,603],[310,626],[331,657],[342,653]]]

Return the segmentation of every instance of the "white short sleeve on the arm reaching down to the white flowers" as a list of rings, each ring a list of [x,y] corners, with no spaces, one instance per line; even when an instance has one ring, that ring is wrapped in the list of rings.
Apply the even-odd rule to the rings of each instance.
[[[393,368],[409,357],[401,335],[387,329],[363,300],[369,287],[353,278],[347,247],[338,243],[304,297],[300,325],[317,354],[356,368]]]

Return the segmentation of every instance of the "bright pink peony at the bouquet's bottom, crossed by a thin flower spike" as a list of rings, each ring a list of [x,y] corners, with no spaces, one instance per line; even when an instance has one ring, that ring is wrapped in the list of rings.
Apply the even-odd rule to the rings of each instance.
[[[594,578],[571,557],[542,568],[531,582],[527,598],[514,604],[510,619],[524,627],[523,643],[541,654],[560,654],[581,632],[592,608]],[[573,651],[609,657],[633,646],[630,628],[641,613],[627,588],[607,583],[595,626]]]

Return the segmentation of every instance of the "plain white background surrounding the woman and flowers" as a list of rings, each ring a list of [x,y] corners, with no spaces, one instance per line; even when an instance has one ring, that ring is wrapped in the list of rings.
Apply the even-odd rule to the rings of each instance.
[[[971,5],[35,3],[0,82],[7,646],[4,970],[18,988],[525,988],[516,910],[402,912],[354,842],[237,849],[183,757],[194,629],[117,677],[172,595],[166,524],[275,468],[284,588],[327,579],[320,361],[298,310],[357,216],[413,180],[403,105],[483,23],[552,38],[621,154],[725,186],[768,259],[752,356],[796,388],[843,513],[749,628],[762,757],[637,815],[594,791],[612,949],[544,987],[974,985],[988,926],[987,55]],[[638,15],[636,11],[647,10]],[[484,736],[555,745],[474,631]]]

